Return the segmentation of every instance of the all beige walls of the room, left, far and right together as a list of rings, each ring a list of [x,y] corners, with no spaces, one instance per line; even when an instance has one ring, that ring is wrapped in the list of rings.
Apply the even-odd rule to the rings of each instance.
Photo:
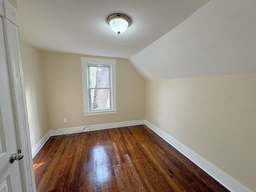
[[[81,55],[20,46],[32,148],[48,129],[146,118],[256,191],[256,73],[145,82],[116,58],[117,114],[84,116]]]

